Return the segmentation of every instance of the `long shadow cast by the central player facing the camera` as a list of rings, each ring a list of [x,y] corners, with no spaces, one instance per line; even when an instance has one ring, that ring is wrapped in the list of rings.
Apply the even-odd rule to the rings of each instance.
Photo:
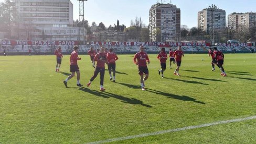
[[[177,99],[177,100],[182,100],[182,101],[193,101],[193,102],[200,103],[200,104],[206,104],[204,102],[197,101],[196,99],[185,96],[185,95],[180,96],[180,95],[175,95],[175,94],[166,93],[166,92],[153,90],[153,89],[146,89],[146,90],[149,91],[149,92],[153,92],[155,94],[164,95],[167,98],[172,98],[172,99]]]

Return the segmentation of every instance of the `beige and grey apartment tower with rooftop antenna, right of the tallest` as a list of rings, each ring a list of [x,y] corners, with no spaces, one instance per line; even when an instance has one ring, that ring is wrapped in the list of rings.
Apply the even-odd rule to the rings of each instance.
[[[198,28],[205,32],[210,32],[211,28],[214,30],[221,30],[226,28],[226,11],[217,7],[205,8],[198,11]]]

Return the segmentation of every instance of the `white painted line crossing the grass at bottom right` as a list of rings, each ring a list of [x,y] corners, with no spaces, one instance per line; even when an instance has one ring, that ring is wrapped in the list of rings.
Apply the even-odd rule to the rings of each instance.
[[[147,136],[155,136],[155,135],[172,133],[175,131],[182,131],[182,130],[187,130],[187,129],[195,129],[195,128],[200,128],[200,127],[208,127],[208,126],[227,124],[227,123],[233,123],[233,122],[241,122],[241,121],[246,121],[249,119],[256,119],[256,116],[250,116],[250,117],[238,118],[238,119],[230,119],[227,121],[220,121],[220,122],[208,123],[208,124],[197,125],[197,126],[188,126],[188,127],[183,127],[183,128],[168,129],[168,130],[156,131],[153,133],[145,133],[145,134],[140,134],[140,135],[112,138],[112,139],[106,139],[106,140],[101,140],[101,141],[89,142],[88,144],[97,144],[97,143],[105,143],[105,142],[113,142],[113,141],[122,141],[122,140],[127,140],[127,139],[141,138],[141,137],[147,137]]]

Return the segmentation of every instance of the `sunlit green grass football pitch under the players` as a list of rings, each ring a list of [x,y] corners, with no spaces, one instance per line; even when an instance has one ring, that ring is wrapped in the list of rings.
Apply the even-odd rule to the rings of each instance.
[[[256,55],[225,54],[227,77],[211,71],[208,54],[185,54],[180,77],[158,75],[149,55],[146,91],[134,55],[118,55],[116,83],[105,71],[86,87],[94,68],[79,55],[83,88],[69,73],[69,55],[55,72],[55,56],[0,56],[0,143],[88,143],[256,115]],[[201,59],[204,59],[202,61]],[[256,119],[112,143],[256,143]]]

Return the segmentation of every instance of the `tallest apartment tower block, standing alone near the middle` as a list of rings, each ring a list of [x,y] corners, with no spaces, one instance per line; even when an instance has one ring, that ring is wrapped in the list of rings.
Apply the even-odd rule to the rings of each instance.
[[[152,5],[149,28],[151,41],[179,41],[180,9],[172,4]]]

